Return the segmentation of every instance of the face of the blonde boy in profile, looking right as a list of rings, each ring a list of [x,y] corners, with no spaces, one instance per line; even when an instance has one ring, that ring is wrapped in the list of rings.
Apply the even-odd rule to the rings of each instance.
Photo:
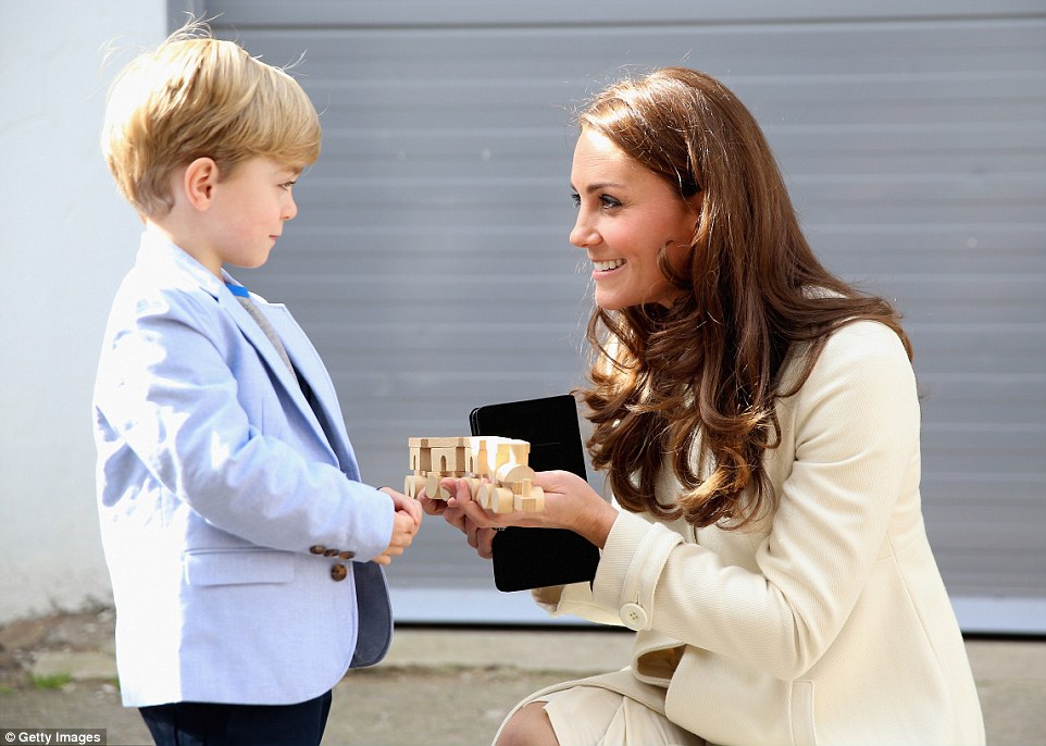
[[[247,269],[264,264],[284,223],[298,214],[291,187],[299,174],[299,169],[252,158],[214,184],[208,240],[197,259],[217,275],[223,264]]]

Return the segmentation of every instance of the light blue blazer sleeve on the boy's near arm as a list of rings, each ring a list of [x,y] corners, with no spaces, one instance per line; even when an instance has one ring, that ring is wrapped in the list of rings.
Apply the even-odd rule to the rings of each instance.
[[[314,436],[288,420],[262,365],[234,374],[253,350],[212,298],[164,290],[136,299],[114,312],[107,338],[96,408],[176,500],[261,546],[320,544],[359,560],[388,546],[391,500],[310,452]]]

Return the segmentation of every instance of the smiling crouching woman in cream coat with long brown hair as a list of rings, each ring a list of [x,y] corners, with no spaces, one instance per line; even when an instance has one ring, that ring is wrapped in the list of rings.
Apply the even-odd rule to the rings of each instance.
[[[539,474],[544,513],[468,485],[429,512],[565,527],[595,581],[534,592],[636,630],[632,666],[532,695],[509,744],[981,744],[962,637],[919,498],[898,314],[812,254],[758,125],[668,69],[580,116],[571,243],[594,264],[593,464]]]

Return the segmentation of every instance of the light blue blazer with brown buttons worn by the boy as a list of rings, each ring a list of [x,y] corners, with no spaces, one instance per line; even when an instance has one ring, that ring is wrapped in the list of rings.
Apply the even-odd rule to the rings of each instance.
[[[360,482],[304,332],[253,300],[315,411],[225,284],[158,234],[113,302],[94,415],[127,706],[299,703],[388,649],[388,590],[369,560],[388,546],[393,501]]]

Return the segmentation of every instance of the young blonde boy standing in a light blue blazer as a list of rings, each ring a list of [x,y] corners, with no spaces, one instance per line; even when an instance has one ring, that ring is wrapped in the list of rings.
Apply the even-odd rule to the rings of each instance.
[[[145,223],[95,389],[123,701],[158,744],[320,743],[331,689],[385,655],[414,500],[360,482],[331,378],[265,263],[320,152],[283,71],[206,26],[113,83],[104,151]]]

